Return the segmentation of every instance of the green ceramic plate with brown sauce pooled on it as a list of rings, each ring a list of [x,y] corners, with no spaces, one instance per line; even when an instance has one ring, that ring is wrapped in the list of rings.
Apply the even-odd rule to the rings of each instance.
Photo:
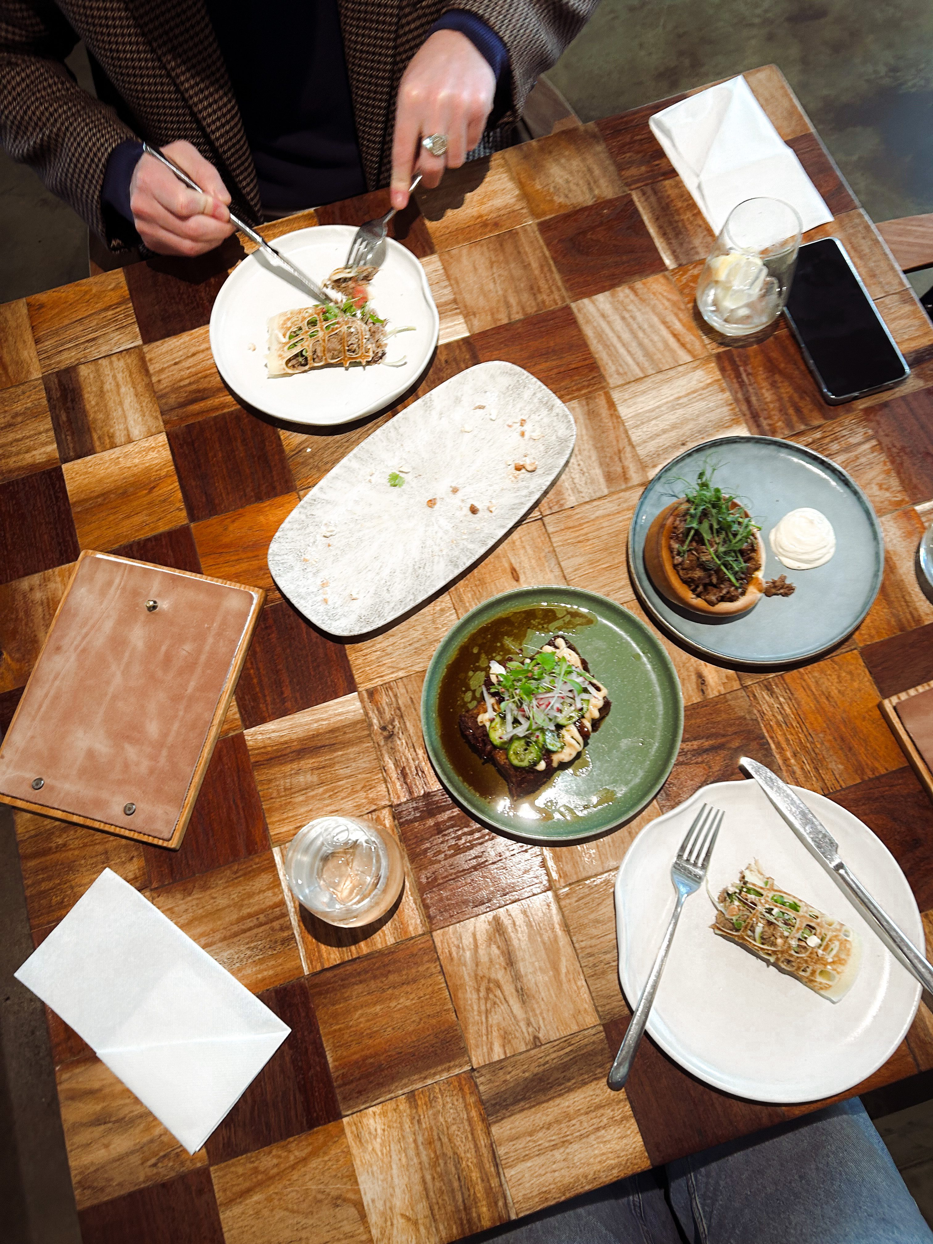
[[[458,720],[475,703],[470,679],[479,685],[506,639],[541,644],[555,632],[571,636],[612,708],[576,764],[514,805]],[[448,631],[424,679],[422,729],[438,776],[470,816],[525,842],[581,842],[623,825],[658,792],[680,746],[683,697],[671,658],[634,615],[576,587],[524,587]]]

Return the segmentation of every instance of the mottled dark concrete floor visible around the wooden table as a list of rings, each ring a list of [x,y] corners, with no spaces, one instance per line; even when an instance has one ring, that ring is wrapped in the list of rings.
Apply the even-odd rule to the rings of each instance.
[[[784,70],[875,220],[933,211],[929,0],[602,0],[550,77],[591,121],[768,62]],[[70,63],[90,85],[81,50]],[[0,225],[0,302],[87,275],[82,221],[2,153]],[[924,290],[932,279],[921,274],[914,287]],[[9,1070],[0,1074],[0,1234],[11,1244],[71,1244],[77,1222],[41,1008],[10,979],[29,947],[11,826],[1,815],[0,855],[0,878],[6,878],[0,886],[0,1062],[5,1047]],[[933,1224],[928,1081],[928,1075],[917,1077],[897,1100],[882,1092],[866,1103]],[[25,1118],[30,1126],[16,1127]]]

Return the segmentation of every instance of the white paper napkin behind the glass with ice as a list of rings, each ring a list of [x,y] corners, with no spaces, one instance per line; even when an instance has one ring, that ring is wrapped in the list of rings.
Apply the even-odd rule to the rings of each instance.
[[[656,112],[649,124],[715,233],[734,207],[759,195],[796,208],[804,233],[832,220],[744,77]]]

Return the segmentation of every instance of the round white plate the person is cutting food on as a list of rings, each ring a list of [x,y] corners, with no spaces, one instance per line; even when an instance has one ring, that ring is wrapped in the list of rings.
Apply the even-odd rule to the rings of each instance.
[[[356,229],[317,225],[279,238],[276,248],[318,284],[346,261]],[[391,328],[413,325],[388,343],[387,358],[406,357],[402,367],[322,367],[302,376],[266,376],[266,322],[294,307],[311,306],[307,290],[292,285],[287,270],[255,251],[234,269],[210,313],[210,350],[218,371],[249,406],[291,423],[316,427],[350,423],[389,406],[411,388],[430,361],[438,342],[438,309],[424,269],[391,238],[386,261],[371,285],[376,311]],[[250,348],[255,347],[255,348]]]

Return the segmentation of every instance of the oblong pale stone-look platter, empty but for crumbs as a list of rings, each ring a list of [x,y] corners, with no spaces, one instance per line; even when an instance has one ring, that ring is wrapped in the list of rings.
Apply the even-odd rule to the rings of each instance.
[[[537,505],[575,439],[570,411],[534,376],[470,367],[311,489],[272,537],[272,578],[328,634],[377,631],[484,557]]]

